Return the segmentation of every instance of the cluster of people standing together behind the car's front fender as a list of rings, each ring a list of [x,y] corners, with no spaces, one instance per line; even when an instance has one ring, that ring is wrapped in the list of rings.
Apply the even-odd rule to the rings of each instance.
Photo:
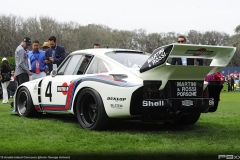
[[[32,50],[27,50],[32,45]],[[15,51],[15,76],[18,85],[47,76],[66,57],[65,48],[51,36],[42,49],[38,40],[25,37]],[[55,67],[56,66],[56,67]]]

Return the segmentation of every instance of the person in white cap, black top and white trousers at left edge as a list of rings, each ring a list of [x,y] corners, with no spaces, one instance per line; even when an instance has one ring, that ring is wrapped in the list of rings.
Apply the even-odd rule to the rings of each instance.
[[[2,90],[3,90],[2,104],[4,104],[4,103],[8,103],[7,86],[9,84],[9,81],[11,80],[11,68],[6,57],[2,59],[1,77],[2,77],[1,83],[2,83]]]

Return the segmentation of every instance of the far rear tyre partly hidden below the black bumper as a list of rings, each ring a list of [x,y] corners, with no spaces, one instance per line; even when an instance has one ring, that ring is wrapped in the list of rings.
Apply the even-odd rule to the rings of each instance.
[[[183,114],[181,116],[181,118],[177,121],[173,121],[173,122],[166,122],[165,124],[173,124],[173,125],[194,125],[199,117],[200,117],[201,113],[188,113],[188,114]]]

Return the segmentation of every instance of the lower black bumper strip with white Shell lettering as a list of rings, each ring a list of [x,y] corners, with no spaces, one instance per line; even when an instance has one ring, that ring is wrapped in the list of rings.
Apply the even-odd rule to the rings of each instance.
[[[170,98],[146,99],[142,103],[142,114],[156,114],[169,110],[178,110],[182,113],[207,112],[214,106],[213,98]]]

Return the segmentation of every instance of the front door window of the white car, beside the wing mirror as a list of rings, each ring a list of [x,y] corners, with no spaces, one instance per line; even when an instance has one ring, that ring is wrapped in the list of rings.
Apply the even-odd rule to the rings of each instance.
[[[71,59],[67,61],[68,63],[66,63],[66,66],[65,64],[63,65],[65,69],[61,67],[58,73],[60,74],[61,72],[62,75],[74,75],[75,74],[74,71],[76,70],[76,67],[80,63],[82,57],[83,57],[82,55],[73,55]]]

